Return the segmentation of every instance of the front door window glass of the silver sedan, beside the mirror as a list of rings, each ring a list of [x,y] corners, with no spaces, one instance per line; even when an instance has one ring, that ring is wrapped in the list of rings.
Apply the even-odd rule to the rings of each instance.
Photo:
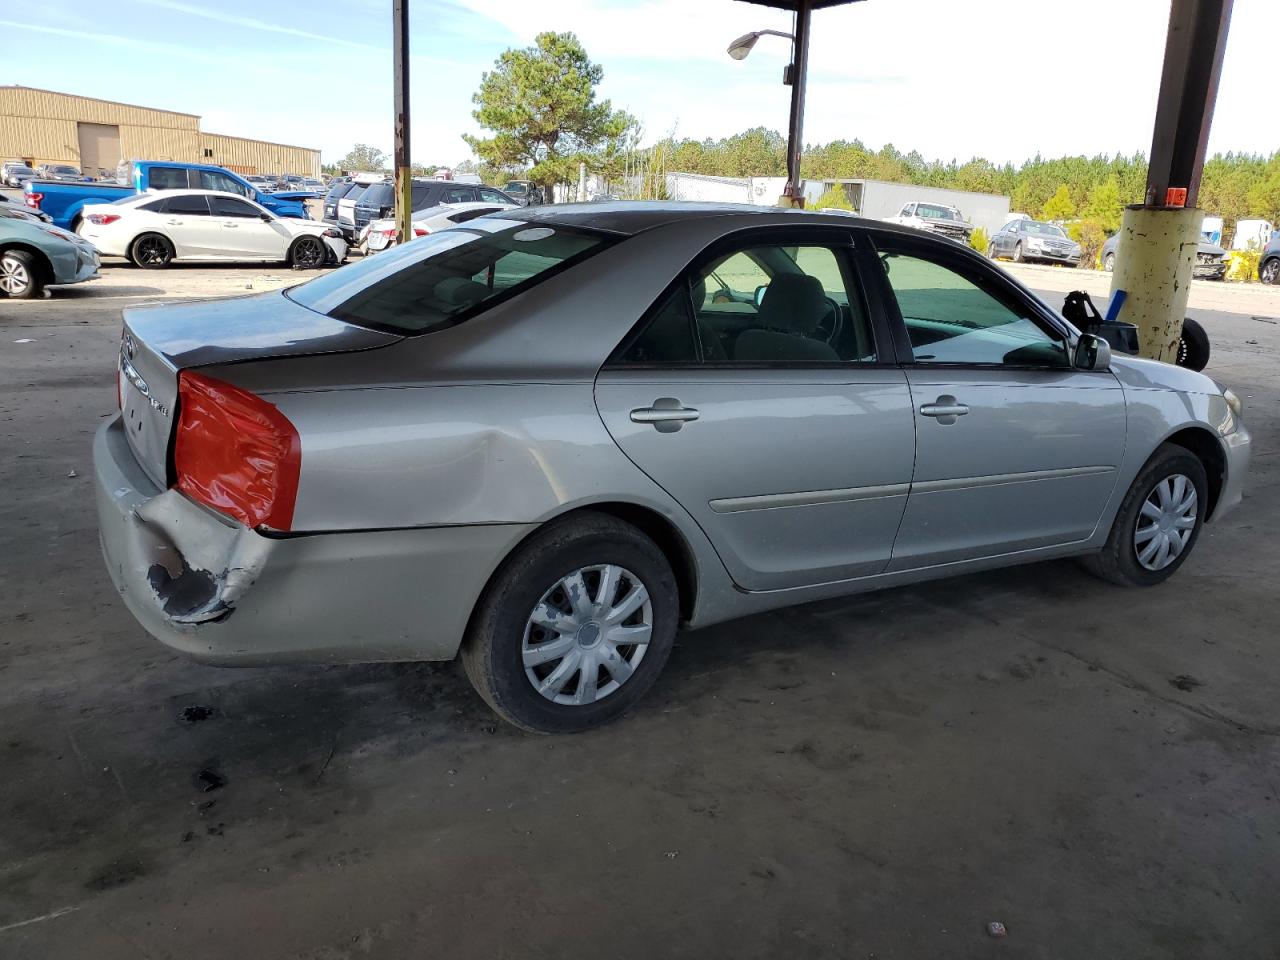
[[[934,260],[890,252],[881,261],[915,362],[1068,366],[1065,339],[1011,294]]]

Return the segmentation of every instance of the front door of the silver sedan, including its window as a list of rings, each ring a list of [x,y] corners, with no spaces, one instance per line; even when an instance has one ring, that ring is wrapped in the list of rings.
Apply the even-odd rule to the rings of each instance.
[[[916,438],[888,570],[1088,539],[1124,453],[1119,381],[1073,369],[1065,334],[998,270],[900,238],[881,253]]]

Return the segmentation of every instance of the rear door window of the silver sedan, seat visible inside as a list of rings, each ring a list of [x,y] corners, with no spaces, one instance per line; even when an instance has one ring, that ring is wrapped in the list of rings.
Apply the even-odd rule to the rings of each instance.
[[[617,355],[626,364],[872,362],[876,342],[842,253],[762,244],[714,256]]]

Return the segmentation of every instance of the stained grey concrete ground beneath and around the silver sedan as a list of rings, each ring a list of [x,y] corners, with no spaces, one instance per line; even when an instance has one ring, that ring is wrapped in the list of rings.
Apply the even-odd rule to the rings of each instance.
[[[1194,285],[1254,465],[1170,584],[1046,563],[728,623],[547,739],[453,664],[215,669],[134,626],[88,461],[119,308],[297,276],[106,273],[0,301],[6,960],[1276,956],[1280,291]]]

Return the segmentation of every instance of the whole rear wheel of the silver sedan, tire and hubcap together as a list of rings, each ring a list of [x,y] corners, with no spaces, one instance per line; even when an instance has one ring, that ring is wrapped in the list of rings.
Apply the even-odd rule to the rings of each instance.
[[[572,733],[644,696],[678,618],[662,550],[628,524],[582,513],[538,531],[502,564],[472,616],[462,664],[503,719]]]

